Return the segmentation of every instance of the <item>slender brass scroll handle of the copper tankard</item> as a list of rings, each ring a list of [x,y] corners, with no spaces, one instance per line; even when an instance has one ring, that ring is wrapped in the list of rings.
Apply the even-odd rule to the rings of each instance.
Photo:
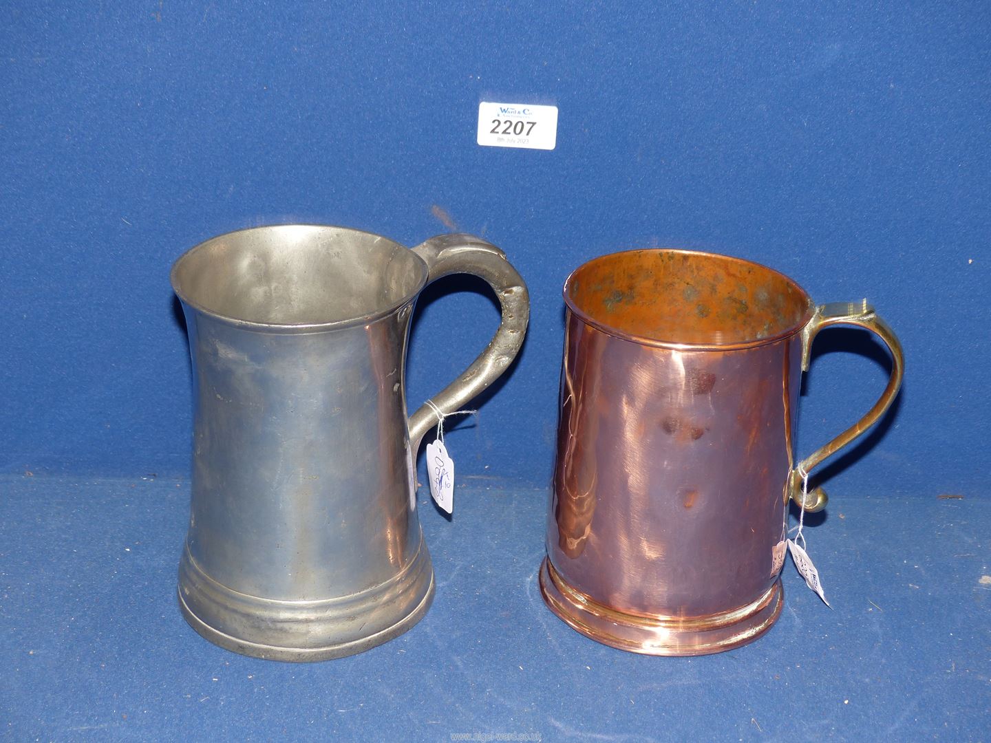
[[[813,339],[819,331],[830,325],[855,325],[865,328],[876,335],[888,347],[891,352],[892,368],[891,377],[888,379],[888,386],[884,388],[874,407],[867,411],[860,420],[839,436],[830,441],[826,446],[817,449],[806,457],[794,470],[789,478],[789,491],[794,500],[801,508],[808,512],[820,511],[826,506],[826,491],[822,487],[815,488],[812,492],[803,491],[803,473],[809,474],[814,467],[819,465],[826,457],[831,456],[858,436],[863,434],[868,428],[877,422],[878,418],[891,407],[898,390],[902,386],[902,376],[905,373],[905,356],[902,353],[902,344],[899,343],[895,332],[884,320],[878,317],[874,308],[864,299],[861,304],[846,302],[832,302],[822,304],[816,308],[812,320],[802,331],[802,371],[809,371],[809,360],[812,350]]]

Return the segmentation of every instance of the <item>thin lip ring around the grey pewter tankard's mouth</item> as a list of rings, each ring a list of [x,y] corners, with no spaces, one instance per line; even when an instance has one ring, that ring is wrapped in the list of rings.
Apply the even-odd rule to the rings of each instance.
[[[264,234],[270,233],[277,235],[277,233],[298,229],[306,228],[319,231],[340,231],[343,233],[350,233],[355,236],[364,236],[370,238],[376,238],[378,241],[385,242],[385,244],[392,246],[393,248],[401,249],[409,255],[411,259],[414,260],[413,265],[419,269],[419,277],[416,281],[415,286],[410,291],[406,292],[401,298],[395,299],[388,304],[376,308],[374,312],[358,315],[355,317],[344,318],[342,320],[332,320],[327,322],[302,322],[302,323],[292,323],[292,322],[262,322],[258,320],[247,320],[241,317],[234,317],[232,315],[225,314],[223,312],[218,312],[212,309],[202,302],[194,301],[190,296],[189,292],[182,289],[182,280],[179,276],[179,272],[182,269],[182,265],[189,263],[189,260],[197,253],[209,249],[212,245],[217,244],[225,239],[230,239],[237,236],[246,236],[248,234]],[[392,314],[399,307],[412,301],[416,296],[423,290],[426,286],[429,278],[429,268],[426,263],[420,258],[415,252],[410,250],[408,247],[398,243],[390,238],[386,238],[384,235],[379,235],[378,233],[369,232],[367,230],[357,230],[352,227],[343,227],[340,225],[321,225],[321,224],[310,224],[310,223],[285,223],[285,224],[272,224],[272,225],[261,225],[259,227],[246,227],[240,230],[231,230],[230,232],[225,232],[221,235],[215,235],[207,240],[197,243],[189,250],[185,251],[181,256],[179,256],[175,262],[172,264],[169,270],[169,282],[172,286],[172,291],[184,304],[188,305],[197,312],[202,312],[205,315],[209,315],[212,318],[220,320],[222,322],[229,323],[238,327],[264,330],[268,332],[272,331],[329,331],[329,330],[344,330],[346,328],[351,328],[356,325],[361,325],[364,323],[372,323],[376,320],[380,320],[390,314]]]

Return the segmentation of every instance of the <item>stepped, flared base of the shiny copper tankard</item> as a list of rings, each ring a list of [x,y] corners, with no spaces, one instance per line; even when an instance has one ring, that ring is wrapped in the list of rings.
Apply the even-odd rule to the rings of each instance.
[[[628,614],[599,603],[569,585],[547,558],[540,566],[540,592],[551,611],[586,637],[644,655],[697,656],[753,642],[781,614],[781,580],[753,603],[720,614],[684,619]]]

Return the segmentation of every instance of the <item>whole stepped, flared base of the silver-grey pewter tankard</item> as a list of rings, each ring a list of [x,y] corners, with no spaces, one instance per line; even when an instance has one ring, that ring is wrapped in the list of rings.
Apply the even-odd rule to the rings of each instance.
[[[218,584],[185,551],[178,603],[200,635],[241,655],[307,663],[355,655],[381,645],[418,622],[434,596],[426,545],[385,584],[317,601],[249,596]]]

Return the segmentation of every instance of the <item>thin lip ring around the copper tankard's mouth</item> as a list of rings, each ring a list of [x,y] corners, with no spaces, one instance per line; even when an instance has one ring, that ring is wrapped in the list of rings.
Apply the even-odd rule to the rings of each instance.
[[[682,256],[699,257],[706,259],[717,259],[719,261],[723,261],[726,263],[747,265],[753,268],[758,268],[762,271],[766,271],[771,275],[778,276],[786,283],[790,284],[796,290],[799,296],[804,300],[805,312],[802,314],[800,320],[794,323],[789,323],[784,330],[774,333],[773,335],[769,335],[764,338],[752,338],[749,340],[739,341],[734,343],[719,343],[719,342],[686,343],[682,341],[671,341],[661,338],[652,338],[650,336],[642,335],[638,333],[629,333],[627,331],[616,328],[610,325],[609,323],[607,323],[606,321],[602,320],[601,318],[595,317],[592,314],[581,309],[574,301],[574,298],[572,296],[572,288],[573,286],[575,286],[576,277],[578,277],[578,275],[582,271],[586,270],[590,266],[599,263],[606,263],[610,260],[614,261],[620,256],[625,256],[634,253],[677,254]],[[789,338],[797,333],[800,333],[802,329],[809,324],[809,321],[813,319],[813,316],[816,313],[816,303],[809,295],[809,292],[806,291],[798,281],[796,281],[794,278],[787,275],[786,273],[783,273],[780,270],[777,270],[776,268],[772,268],[768,265],[759,264],[755,261],[748,261],[743,258],[737,258],[735,256],[726,256],[720,253],[713,253],[710,251],[693,251],[686,248],[631,248],[629,250],[615,251],[612,253],[606,253],[602,256],[597,256],[593,259],[590,259],[589,261],[586,261],[584,264],[579,265],[571,273],[568,274],[568,277],[565,279],[564,286],[562,288],[562,294],[564,295],[564,302],[565,302],[565,306],[568,308],[568,311],[572,312],[582,321],[588,323],[597,330],[600,330],[606,333],[607,335],[613,336],[615,338],[621,338],[622,340],[630,341],[631,343],[637,343],[643,346],[650,346],[653,348],[671,349],[675,351],[739,351],[743,349],[752,349],[752,348],[758,348],[760,346],[766,346],[772,343],[777,343],[785,338]]]

